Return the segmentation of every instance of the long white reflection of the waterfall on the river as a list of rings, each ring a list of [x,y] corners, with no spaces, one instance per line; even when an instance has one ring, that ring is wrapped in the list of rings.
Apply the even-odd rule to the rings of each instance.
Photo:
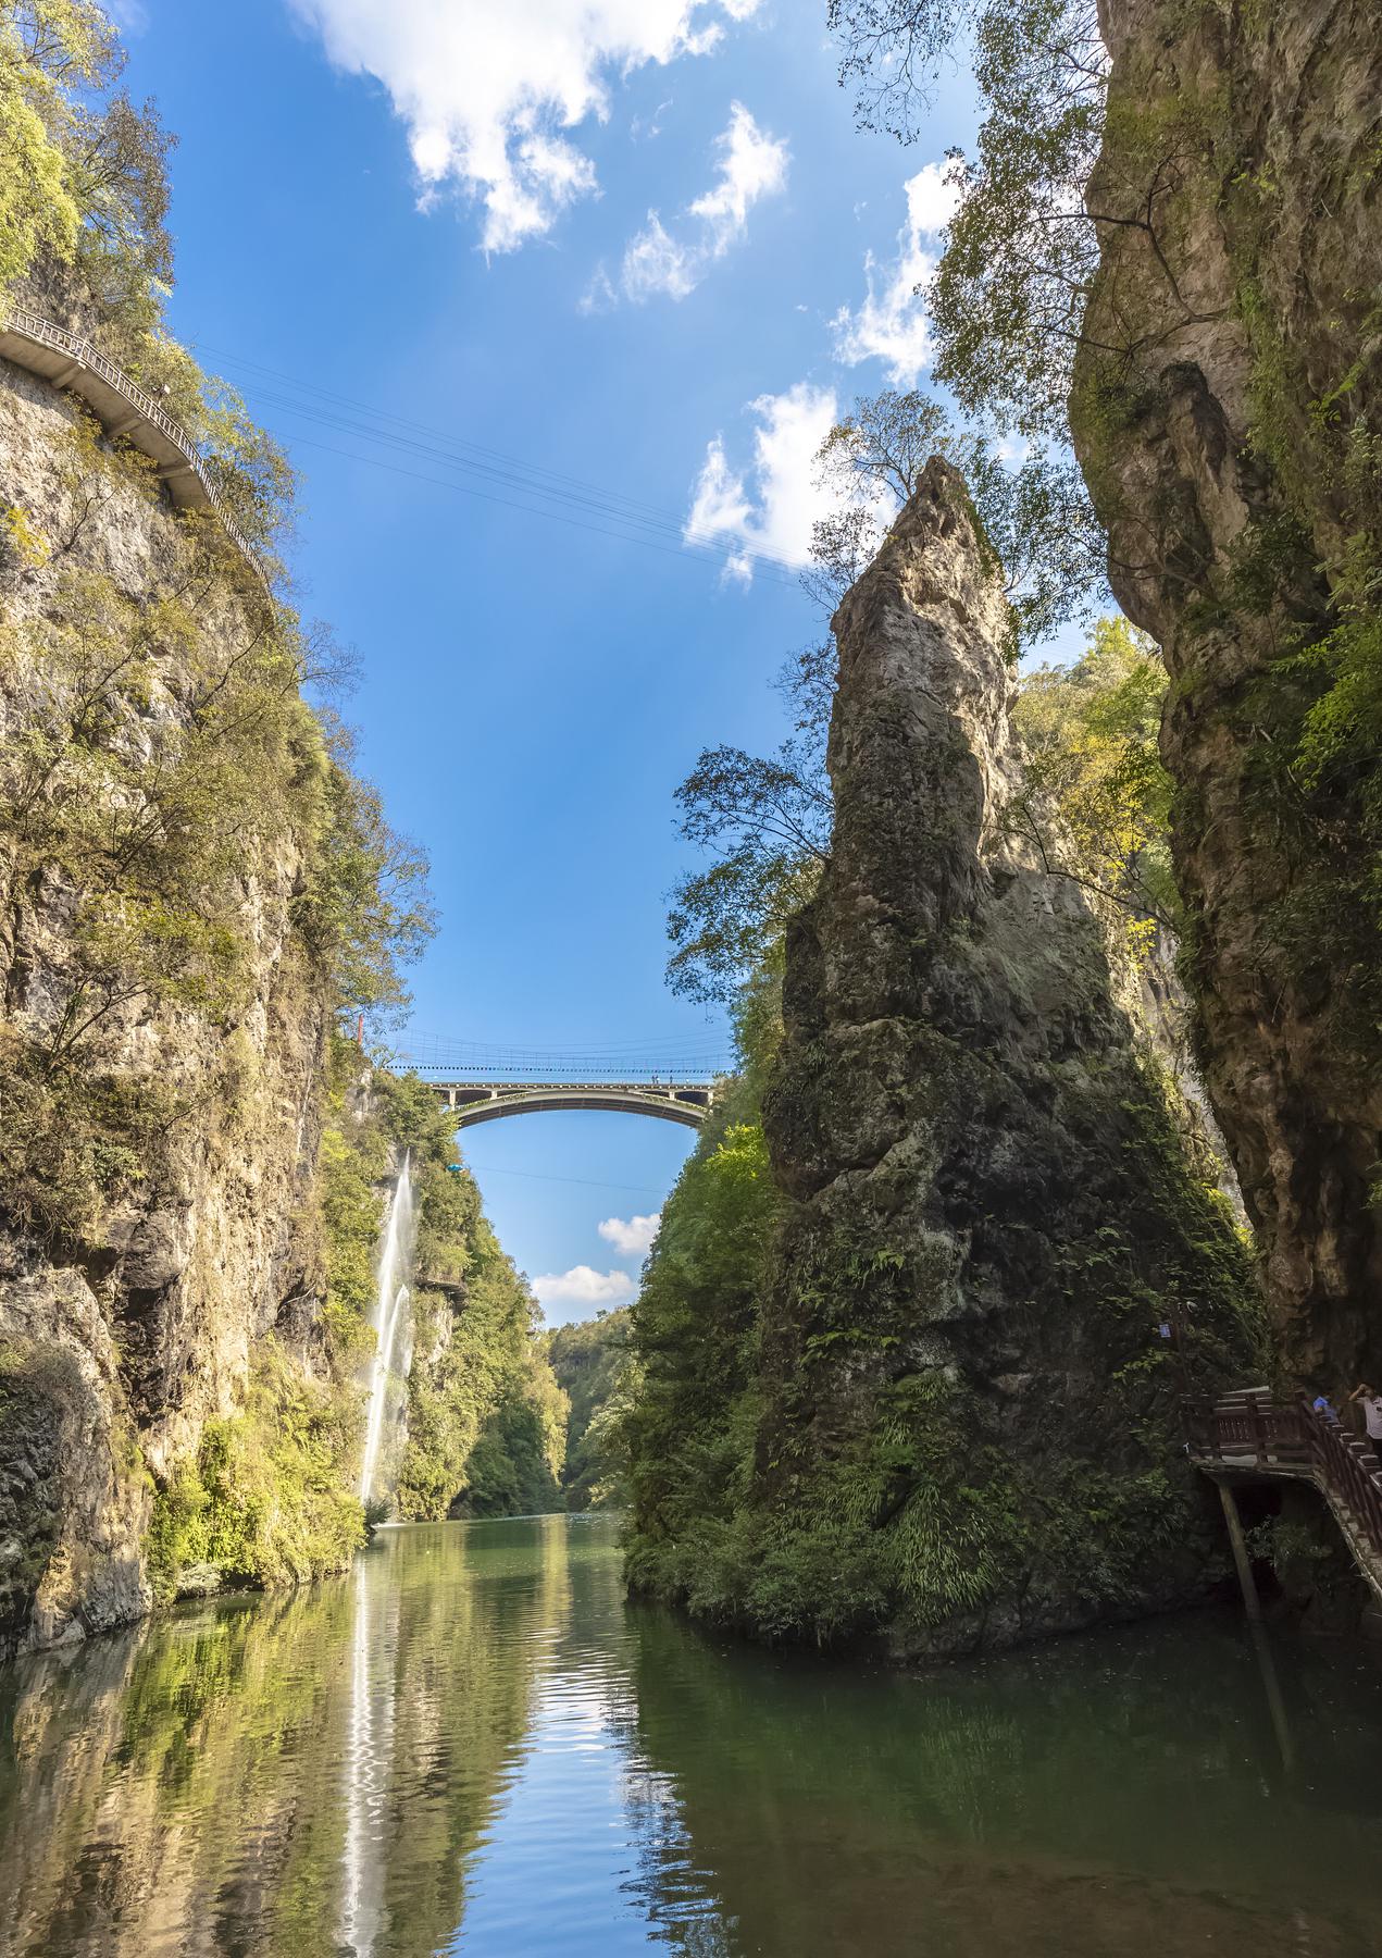
[[[388,1621],[374,1623],[372,1566],[354,1566],[354,1625],[350,1629],[350,1715],[345,1748],[346,1833],[343,1858],[341,1942],[354,1958],[370,1958],[384,1923],[384,1837],[393,1770],[393,1655],[397,1588],[390,1586]],[[382,1639],[376,1637],[382,1633]],[[378,1651],[376,1651],[378,1645]]]

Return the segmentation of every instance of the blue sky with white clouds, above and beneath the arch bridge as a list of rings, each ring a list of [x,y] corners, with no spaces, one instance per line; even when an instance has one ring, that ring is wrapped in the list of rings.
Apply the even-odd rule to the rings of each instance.
[[[967,78],[900,149],[855,131],[820,0],[119,14],[180,139],[172,327],[301,472],[303,605],[356,648],[360,764],[433,860],[413,1030],[724,1053],[662,977],[671,791],[699,748],[783,732],[810,448],[924,372],[910,286]],[[718,548],[681,546],[693,513]],[[599,1226],[654,1214],[691,1134],[468,1142],[564,1320],[628,1296],[607,1275],[646,1230]]]

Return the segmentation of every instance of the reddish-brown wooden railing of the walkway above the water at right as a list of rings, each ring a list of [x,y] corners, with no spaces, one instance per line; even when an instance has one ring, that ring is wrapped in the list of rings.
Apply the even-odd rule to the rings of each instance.
[[[1308,1474],[1353,1517],[1382,1561],[1382,1470],[1372,1449],[1302,1400],[1231,1394],[1186,1410],[1190,1455],[1259,1474]]]

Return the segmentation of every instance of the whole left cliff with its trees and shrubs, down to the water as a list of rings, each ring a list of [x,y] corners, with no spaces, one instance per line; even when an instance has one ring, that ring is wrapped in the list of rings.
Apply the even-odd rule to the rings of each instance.
[[[168,143],[115,84],[98,8],[0,16],[0,303],[155,390],[229,523],[0,362],[0,1653],[348,1561],[409,1145],[405,1512],[554,1502],[564,1420],[429,1096],[364,1095],[333,1032],[403,1001],[425,863],[290,603],[290,472],[162,327]]]

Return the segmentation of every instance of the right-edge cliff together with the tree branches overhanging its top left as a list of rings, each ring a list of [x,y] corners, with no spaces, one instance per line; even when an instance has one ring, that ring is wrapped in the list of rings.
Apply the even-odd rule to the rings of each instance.
[[[1073,441],[1169,674],[1161,756],[1200,1071],[1282,1378],[1378,1371],[1378,278],[1368,0],[830,0],[861,123],[916,135],[963,31],[981,127],[936,374]]]

